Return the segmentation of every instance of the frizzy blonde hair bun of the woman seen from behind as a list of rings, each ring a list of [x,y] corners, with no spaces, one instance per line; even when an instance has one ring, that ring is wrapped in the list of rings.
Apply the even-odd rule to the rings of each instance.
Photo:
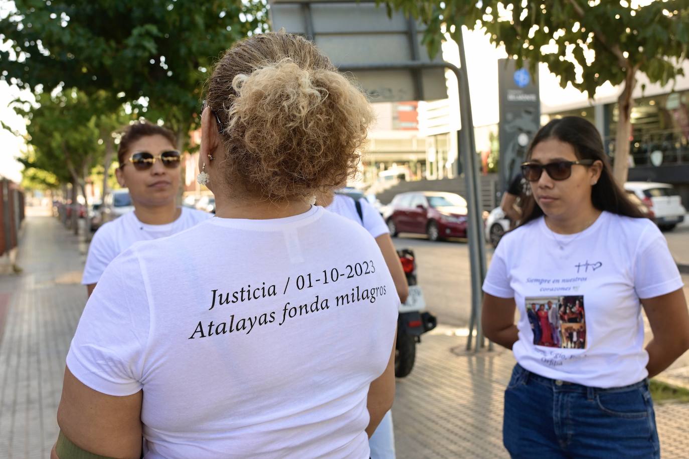
[[[373,113],[345,76],[282,58],[237,74],[232,87],[228,158],[267,198],[312,195],[356,171]]]

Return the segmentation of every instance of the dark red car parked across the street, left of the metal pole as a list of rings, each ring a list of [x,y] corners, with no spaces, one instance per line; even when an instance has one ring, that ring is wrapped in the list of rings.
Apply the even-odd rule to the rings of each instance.
[[[466,237],[466,201],[455,193],[412,191],[401,193],[389,205],[390,235],[420,233],[431,241]]]

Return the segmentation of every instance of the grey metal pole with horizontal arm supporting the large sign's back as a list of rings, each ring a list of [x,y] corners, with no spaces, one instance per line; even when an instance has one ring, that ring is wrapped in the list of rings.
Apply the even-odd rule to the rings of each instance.
[[[460,45],[460,63],[458,68],[449,62],[418,62],[407,61],[398,63],[380,63],[370,65],[340,65],[340,72],[363,72],[367,70],[415,70],[444,67],[457,76],[457,87],[460,99],[460,120],[462,129],[459,136],[458,148],[464,162],[464,179],[466,180],[466,202],[469,206],[467,222],[469,224],[467,238],[469,239],[469,257],[471,261],[471,322],[466,349],[471,349],[474,328],[476,333],[476,348],[479,350],[483,342],[481,332],[481,288],[486,277],[486,250],[483,241],[483,219],[481,206],[481,186],[478,162],[476,158],[476,142],[474,140],[473,120],[471,117],[471,100],[469,96],[469,81],[466,78],[466,58],[464,45]]]

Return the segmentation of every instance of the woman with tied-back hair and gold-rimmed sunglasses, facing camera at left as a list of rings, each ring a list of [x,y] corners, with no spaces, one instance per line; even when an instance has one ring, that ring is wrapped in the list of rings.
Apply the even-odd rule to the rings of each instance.
[[[174,140],[171,131],[150,122],[135,122],[123,134],[115,175],[120,186],[129,189],[134,212],[107,222],[96,231],[81,280],[88,295],[110,261],[134,242],[169,236],[212,217],[176,205],[181,156]]]

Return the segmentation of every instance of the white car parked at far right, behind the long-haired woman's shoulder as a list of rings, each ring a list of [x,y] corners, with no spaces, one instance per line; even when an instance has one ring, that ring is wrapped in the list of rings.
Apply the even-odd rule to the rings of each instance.
[[[650,211],[650,219],[663,230],[671,230],[684,221],[686,209],[672,185],[656,182],[626,182],[624,189],[634,193]]]

